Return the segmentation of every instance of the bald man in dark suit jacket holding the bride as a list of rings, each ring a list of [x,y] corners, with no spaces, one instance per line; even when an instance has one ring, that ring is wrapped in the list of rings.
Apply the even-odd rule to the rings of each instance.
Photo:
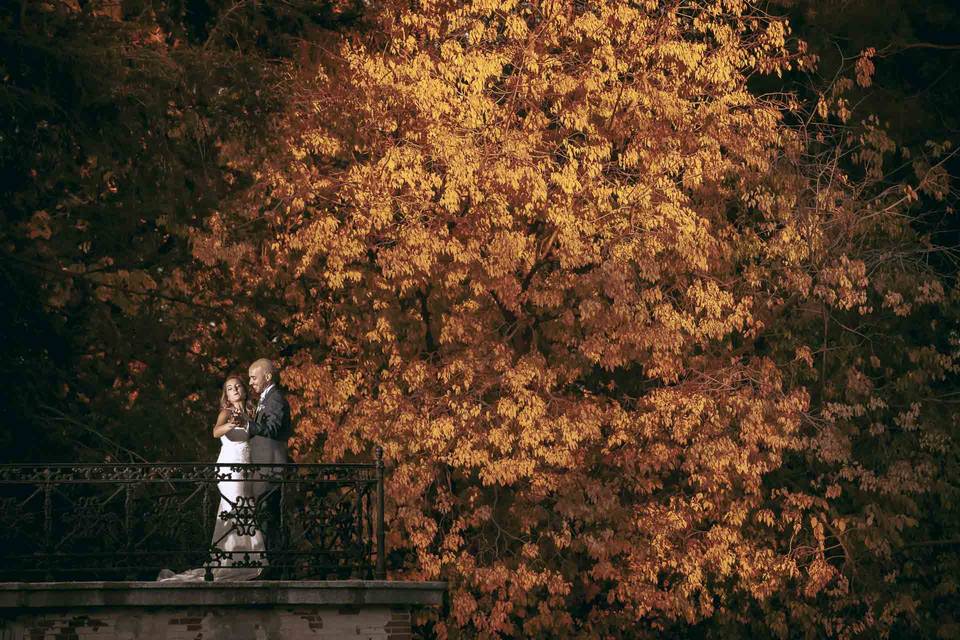
[[[290,405],[277,387],[279,376],[272,360],[261,358],[250,365],[250,388],[259,394],[257,411],[253,419],[247,419],[246,428],[250,434],[250,462],[258,464],[282,464],[287,462],[287,439],[293,435],[290,423]],[[284,531],[280,519],[280,485],[270,482],[270,476],[280,475],[281,469],[263,470],[268,480],[254,480],[253,494],[262,505],[264,522],[263,533],[267,543],[267,558],[272,565],[263,575],[278,575],[276,558],[271,552],[282,550],[285,546]]]

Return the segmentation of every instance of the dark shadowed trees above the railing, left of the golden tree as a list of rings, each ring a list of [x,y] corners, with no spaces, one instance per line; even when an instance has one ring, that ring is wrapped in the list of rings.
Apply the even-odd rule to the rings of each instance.
[[[0,457],[210,457],[223,376],[272,336],[226,330],[245,289],[193,262],[191,233],[253,182],[299,42],[354,14],[323,0],[0,7]]]

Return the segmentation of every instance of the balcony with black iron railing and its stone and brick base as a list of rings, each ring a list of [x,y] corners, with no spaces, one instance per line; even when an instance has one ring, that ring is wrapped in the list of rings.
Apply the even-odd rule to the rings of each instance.
[[[276,499],[224,506],[224,483],[250,477]],[[383,579],[383,505],[379,456],[0,465],[0,640],[409,639],[412,613],[442,607],[446,583]],[[283,535],[262,552],[231,551],[211,542],[217,519]],[[219,581],[236,567],[269,573]],[[161,568],[200,575],[157,582]]]

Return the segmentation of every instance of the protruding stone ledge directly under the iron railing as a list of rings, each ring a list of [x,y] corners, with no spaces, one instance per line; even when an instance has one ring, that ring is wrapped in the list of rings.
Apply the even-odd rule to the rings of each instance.
[[[3,582],[0,609],[272,605],[441,605],[446,582]]]

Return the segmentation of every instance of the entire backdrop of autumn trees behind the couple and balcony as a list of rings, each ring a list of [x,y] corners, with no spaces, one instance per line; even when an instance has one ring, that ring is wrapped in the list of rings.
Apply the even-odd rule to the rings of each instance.
[[[424,633],[956,632],[955,131],[872,93],[904,29],[38,6],[3,15],[0,267],[45,450],[201,455],[270,355],[299,459],[383,446],[393,575],[451,584]]]

